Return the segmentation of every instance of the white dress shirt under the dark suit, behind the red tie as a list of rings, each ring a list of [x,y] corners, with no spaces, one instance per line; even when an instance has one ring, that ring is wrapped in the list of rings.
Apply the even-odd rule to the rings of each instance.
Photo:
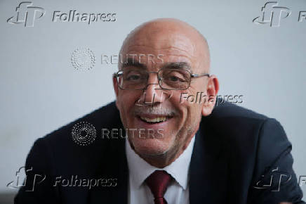
[[[160,169],[149,165],[133,151],[126,139],[126,157],[128,160],[128,203],[154,204],[154,196],[145,184],[145,179],[155,170],[165,170],[175,179],[169,184],[164,198],[168,204],[189,204],[189,163],[194,147],[194,137],[185,151],[170,165]]]

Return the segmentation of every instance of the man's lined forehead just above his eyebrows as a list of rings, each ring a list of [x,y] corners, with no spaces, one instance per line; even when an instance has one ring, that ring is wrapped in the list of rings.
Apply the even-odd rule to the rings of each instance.
[[[163,63],[186,62],[192,66],[197,60],[195,52],[194,42],[184,34],[142,32],[135,34],[126,42],[121,51],[121,58],[127,60],[135,56],[133,58],[136,61],[141,59],[142,63],[148,62],[148,68],[158,69],[163,66]]]

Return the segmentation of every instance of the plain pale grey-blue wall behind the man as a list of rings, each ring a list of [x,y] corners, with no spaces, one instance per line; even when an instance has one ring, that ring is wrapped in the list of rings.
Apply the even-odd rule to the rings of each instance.
[[[256,25],[263,0],[210,1],[33,1],[46,14],[34,27],[6,22],[21,1],[0,1],[0,192],[15,179],[36,139],[114,100],[116,65],[101,64],[101,54],[117,54],[126,34],[147,20],[179,18],[196,27],[211,49],[211,70],[220,79],[220,94],[243,96],[241,106],[284,126],[293,144],[294,170],[305,165],[304,0],[281,0],[291,9],[280,27]],[[110,23],[53,23],[54,11],[117,13]],[[72,52],[95,53],[95,67],[72,67]],[[302,186],[306,193],[306,186]]]

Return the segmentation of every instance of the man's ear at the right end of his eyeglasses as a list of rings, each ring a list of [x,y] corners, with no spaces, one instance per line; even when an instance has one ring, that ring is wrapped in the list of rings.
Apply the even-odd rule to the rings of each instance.
[[[213,111],[213,107],[215,106],[216,97],[219,91],[219,82],[215,75],[211,75],[208,78],[208,83],[206,87],[206,94],[208,100],[203,103],[202,106],[202,115],[208,116]]]

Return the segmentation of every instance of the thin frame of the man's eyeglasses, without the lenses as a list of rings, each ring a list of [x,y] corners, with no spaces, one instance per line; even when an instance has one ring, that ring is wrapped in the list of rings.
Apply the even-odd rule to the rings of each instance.
[[[208,73],[201,73],[201,74],[194,74],[194,73],[192,73],[190,70],[187,70],[187,69],[184,69],[185,71],[187,71],[187,72],[189,72],[189,74],[190,74],[190,80],[189,80],[189,84],[188,84],[188,87],[186,88],[186,89],[164,89],[162,86],[161,86],[161,77],[159,76],[159,72],[161,72],[162,70],[166,70],[166,69],[169,69],[169,68],[161,68],[161,69],[159,69],[157,72],[147,72],[147,71],[145,71],[145,72],[147,72],[147,74],[148,74],[148,77],[147,77],[147,81],[148,81],[148,79],[149,79],[149,74],[157,74],[157,80],[159,81],[159,87],[161,87],[161,89],[163,89],[163,90],[187,90],[189,87],[190,87],[190,84],[191,84],[191,81],[192,81],[192,78],[198,78],[198,77],[211,77],[211,75],[209,75]],[[119,89],[121,89],[121,90],[145,90],[145,89],[147,89],[147,86],[149,86],[149,85],[151,85],[151,84],[147,84],[143,89],[122,89],[121,87],[120,87],[120,85],[119,85],[119,72],[124,72],[124,70],[119,70],[118,72],[114,72],[114,74],[113,74],[113,77],[114,78],[116,78],[116,80],[117,80],[117,83],[118,83],[118,87],[119,87]],[[122,74],[121,74],[122,75]]]

